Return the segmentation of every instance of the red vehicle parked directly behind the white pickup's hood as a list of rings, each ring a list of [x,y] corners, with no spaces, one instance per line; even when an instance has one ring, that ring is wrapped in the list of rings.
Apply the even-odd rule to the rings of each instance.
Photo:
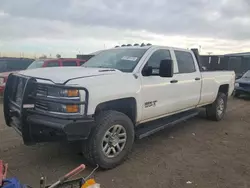
[[[62,67],[62,66],[81,66],[86,61],[83,59],[75,59],[75,58],[60,58],[60,59],[39,59],[33,62],[30,62],[28,66],[26,64],[20,65],[19,67],[23,67],[24,69],[35,69],[35,68],[44,68],[44,67]],[[19,70],[19,69],[17,69]],[[21,69],[20,69],[21,70]],[[7,78],[12,72],[0,73],[0,94],[3,93]]]

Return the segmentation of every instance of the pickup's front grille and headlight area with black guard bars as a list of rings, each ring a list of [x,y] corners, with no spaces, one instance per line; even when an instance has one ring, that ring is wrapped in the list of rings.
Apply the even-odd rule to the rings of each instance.
[[[89,92],[86,88],[55,84],[53,81],[47,83],[48,81],[50,80],[20,74],[9,75],[4,98],[7,125],[11,125],[13,117],[23,123],[25,118],[33,114],[60,119],[79,119],[87,115]],[[84,101],[80,97],[64,97],[67,91],[74,89],[85,92]],[[78,111],[68,113],[67,105],[79,105]]]

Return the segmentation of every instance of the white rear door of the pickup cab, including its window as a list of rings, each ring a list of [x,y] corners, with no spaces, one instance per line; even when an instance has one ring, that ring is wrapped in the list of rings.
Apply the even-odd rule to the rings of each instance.
[[[179,100],[177,110],[193,108],[198,105],[201,92],[201,74],[195,56],[189,51],[174,50],[178,72],[175,84]]]

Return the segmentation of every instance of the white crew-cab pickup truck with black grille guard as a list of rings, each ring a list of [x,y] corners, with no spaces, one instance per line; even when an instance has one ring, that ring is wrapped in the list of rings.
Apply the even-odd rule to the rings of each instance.
[[[113,168],[143,138],[198,114],[223,118],[233,71],[203,72],[192,50],[126,46],[104,50],[83,67],[11,74],[4,93],[6,124],[26,145],[81,142],[92,164]]]

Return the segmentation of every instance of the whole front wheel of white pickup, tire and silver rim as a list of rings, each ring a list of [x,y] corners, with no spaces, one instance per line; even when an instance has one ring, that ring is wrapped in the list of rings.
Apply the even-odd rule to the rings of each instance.
[[[103,169],[121,164],[134,143],[134,125],[117,111],[105,111],[96,117],[96,127],[84,143],[83,154],[93,165]]]

